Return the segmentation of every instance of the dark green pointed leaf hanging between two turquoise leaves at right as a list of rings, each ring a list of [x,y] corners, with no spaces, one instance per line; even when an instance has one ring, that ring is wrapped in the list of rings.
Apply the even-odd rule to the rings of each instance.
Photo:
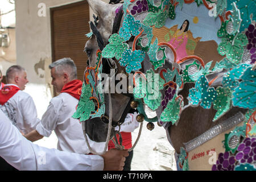
[[[218,87],[216,89],[216,100],[213,102],[213,109],[217,110],[213,122],[230,110],[232,92],[228,88]]]

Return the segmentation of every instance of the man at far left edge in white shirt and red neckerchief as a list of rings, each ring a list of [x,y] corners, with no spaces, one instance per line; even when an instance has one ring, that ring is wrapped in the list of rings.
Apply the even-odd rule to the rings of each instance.
[[[11,122],[27,134],[35,130],[40,122],[32,97],[23,92],[27,84],[27,73],[19,65],[13,65],[6,71],[6,82],[0,92],[0,109]]]

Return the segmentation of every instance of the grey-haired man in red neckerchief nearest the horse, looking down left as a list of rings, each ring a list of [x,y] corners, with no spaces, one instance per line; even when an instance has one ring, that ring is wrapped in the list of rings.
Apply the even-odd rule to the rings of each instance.
[[[58,138],[58,150],[88,154],[82,126],[78,119],[72,118],[82,88],[82,81],[77,80],[76,65],[70,58],[64,58],[50,64],[49,68],[52,85],[60,94],[52,98],[36,129],[24,137],[34,142],[49,137],[54,130]]]

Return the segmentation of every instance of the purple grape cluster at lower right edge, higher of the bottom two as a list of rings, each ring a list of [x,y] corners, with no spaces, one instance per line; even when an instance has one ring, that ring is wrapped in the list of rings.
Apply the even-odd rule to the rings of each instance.
[[[256,161],[256,138],[246,138],[237,148],[236,160],[241,164]]]

